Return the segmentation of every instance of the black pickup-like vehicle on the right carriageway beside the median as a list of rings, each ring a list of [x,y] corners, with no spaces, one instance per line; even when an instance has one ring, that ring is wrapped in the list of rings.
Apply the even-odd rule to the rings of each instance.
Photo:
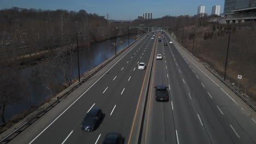
[[[155,100],[156,101],[168,101],[169,94],[167,91],[167,86],[155,86]]]

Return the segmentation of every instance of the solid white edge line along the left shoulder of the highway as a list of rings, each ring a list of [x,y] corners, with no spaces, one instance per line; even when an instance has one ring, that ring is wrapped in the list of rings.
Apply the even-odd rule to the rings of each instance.
[[[141,41],[142,41],[142,39],[141,39]],[[135,46],[137,46],[141,41],[139,41]],[[133,50],[135,46],[133,46],[131,50]],[[117,62],[115,62],[115,64],[117,64],[121,59],[123,59],[131,50],[129,50],[127,53],[125,53],[125,55],[124,55],[123,57],[121,57]],[[112,67],[110,67],[110,68],[106,71],[106,73],[108,73],[108,71],[109,71],[110,69],[112,69],[112,68],[115,66],[115,64],[112,65]],[[104,75],[106,75],[106,73],[104,73],[100,78],[98,78],[98,80],[97,80],[96,82],[94,82],[82,95],[80,95],[80,97],[78,97],[77,100],[75,100],[71,105],[69,105],[65,111],[63,111],[57,118],[55,118],[53,122],[51,122],[44,130],[41,131],[41,133],[39,133],[36,137],[34,137],[34,139],[33,139],[30,143],[28,143],[28,144],[31,144],[34,140],[37,139],[38,136],[40,136],[42,133],[44,133],[44,131],[45,131],[46,129],[48,129],[48,128],[51,126],[51,124],[53,124],[59,117],[61,117],[61,116],[63,115],[63,113],[65,113],[74,103],[76,103],[86,92],[88,92],[89,89],[90,89],[92,86],[95,85],[95,83],[97,83]]]

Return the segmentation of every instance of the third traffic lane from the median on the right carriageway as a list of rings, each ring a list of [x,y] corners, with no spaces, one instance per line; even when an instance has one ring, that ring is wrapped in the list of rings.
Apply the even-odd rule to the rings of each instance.
[[[176,51],[174,51],[173,54],[173,59],[176,59],[174,60],[174,62],[178,63],[176,67],[179,70],[179,75],[182,75],[182,79],[184,79],[184,83],[186,83],[185,85],[188,85],[189,96],[193,98],[191,99],[191,101],[193,101],[192,103],[194,105],[194,108],[196,109],[194,111],[197,111],[197,113],[199,114],[198,117],[201,118],[202,125],[206,128],[206,133],[210,135],[211,141],[218,143],[232,143],[229,135],[226,134],[225,129],[219,122],[218,117],[216,117],[214,109],[209,106],[210,99],[208,99],[209,97],[206,97],[206,91],[205,89],[203,89],[201,82],[198,81],[196,76],[189,69],[188,65],[184,62],[184,59],[181,57],[181,55],[179,55],[179,53],[177,53]],[[215,131],[218,132],[216,133]]]

